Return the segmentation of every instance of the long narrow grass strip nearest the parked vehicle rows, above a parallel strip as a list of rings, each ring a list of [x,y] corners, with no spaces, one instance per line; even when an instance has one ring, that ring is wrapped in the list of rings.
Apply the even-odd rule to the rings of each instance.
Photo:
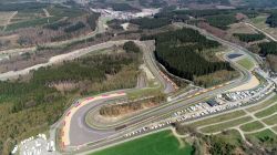
[[[214,117],[211,117],[211,118],[205,118],[205,120],[202,120],[202,121],[197,121],[197,122],[191,123],[188,125],[192,126],[192,127],[197,127],[197,126],[208,125],[208,124],[213,124],[213,123],[217,123],[217,122],[228,121],[228,120],[232,120],[232,118],[243,116],[246,113],[244,111],[236,111],[236,112],[214,116]]]

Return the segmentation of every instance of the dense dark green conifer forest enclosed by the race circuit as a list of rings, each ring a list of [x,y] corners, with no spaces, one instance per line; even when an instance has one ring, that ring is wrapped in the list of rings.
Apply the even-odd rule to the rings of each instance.
[[[216,41],[207,40],[198,31],[182,29],[161,33],[156,40],[155,56],[171,73],[193,81],[196,76],[220,70],[233,71],[226,62],[211,62],[198,51],[218,48]],[[205,51],[204,51],[205,52]]]

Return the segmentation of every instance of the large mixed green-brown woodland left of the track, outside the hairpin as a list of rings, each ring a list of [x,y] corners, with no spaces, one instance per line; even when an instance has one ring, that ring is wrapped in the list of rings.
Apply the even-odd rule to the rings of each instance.
[[[39,69],[29,81],[0,82],[0,151],[9,154],[17,142],[47,131],[72,99],[134,87],[140,63],[140,53],[85,55]]]

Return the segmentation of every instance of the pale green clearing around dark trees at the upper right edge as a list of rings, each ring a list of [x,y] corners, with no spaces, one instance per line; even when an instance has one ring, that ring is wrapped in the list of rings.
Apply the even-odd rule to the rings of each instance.
[[[277,39],[277,28],[270,28],[266,24],[266,19],[268,16],[263,14],[263,16],[258,16],[256,18],[250,19],[252,23],[257,27],[258,29],[267,32],[268,34],[270,34],[271,37],[274,37],[275,39]]]

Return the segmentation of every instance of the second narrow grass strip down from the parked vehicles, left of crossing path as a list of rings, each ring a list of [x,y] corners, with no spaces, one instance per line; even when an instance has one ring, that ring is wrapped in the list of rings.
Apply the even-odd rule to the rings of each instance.
[[[220,131],[227,130],[229,127],[234,127],[234,126],[237,126],[239,124],[249,122],[252,120],[253,118],[250,116],[245,116],[245,117],[240,117],[240,118],[237,118],[237,120],[233,120],[233,121],[228,121],[228,122],[225,122],[225,123],[211,125],[211,126],[201,128],[201,132],[203,132],[203,133],[216,133],[216,132],[220,132]]]

